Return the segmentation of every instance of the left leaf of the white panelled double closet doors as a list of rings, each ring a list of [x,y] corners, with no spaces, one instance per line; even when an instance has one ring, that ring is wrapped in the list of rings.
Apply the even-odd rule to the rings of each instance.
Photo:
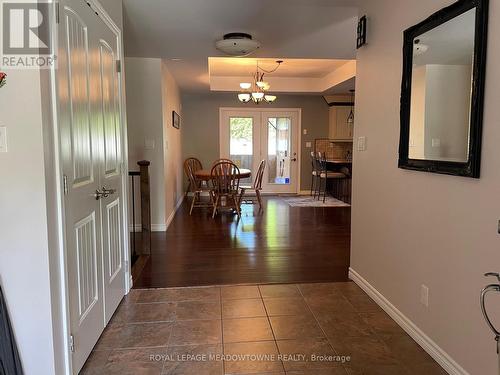
[[[93,98],[99,95],[90,77],[92,11],[83,2],[67,1],[59,29],[59,128],[61,162],[66,176],[64,199],[70,330],[74,340],[73,370],[77,373],[104,329],[101,212],[99,188],[99,123]]]

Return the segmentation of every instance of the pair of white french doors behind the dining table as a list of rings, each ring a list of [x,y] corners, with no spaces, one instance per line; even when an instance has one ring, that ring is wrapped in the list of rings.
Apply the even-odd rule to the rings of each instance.
[[[220,110],[220,156],[252,171],[265,160],[265,193],[298,192],[299,137],[299,109]]]

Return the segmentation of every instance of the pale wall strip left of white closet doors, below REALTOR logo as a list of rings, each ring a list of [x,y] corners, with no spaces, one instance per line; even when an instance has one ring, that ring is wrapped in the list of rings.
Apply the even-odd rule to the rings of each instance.
[[[42,84],[38,70],[7,70],[0,89],[0,284],[26,374],[53,374]],[[43,97],[48,91],[43,89]],[[22,97],[22,100],[19,98]],[[29,108],[29,110],[26,110]],[[48,106],[45,108],[48,111]]]

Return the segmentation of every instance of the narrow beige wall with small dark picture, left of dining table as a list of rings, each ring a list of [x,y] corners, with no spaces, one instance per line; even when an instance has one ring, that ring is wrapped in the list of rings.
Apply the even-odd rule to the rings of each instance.
[[[183,159],[181,135],[183,126],[172,126],[172,111],[182,118],[182,105],[179,87],[169,72],[165,61],[161,64],[162,101],[163,101],[163,137],[164,137],[164,180],[165,180],[165,216],[167,224],[172,220],[183,190]]]

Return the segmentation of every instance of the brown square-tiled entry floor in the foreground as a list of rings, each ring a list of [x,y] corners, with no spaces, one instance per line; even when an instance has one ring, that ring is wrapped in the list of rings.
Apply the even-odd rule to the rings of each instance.
[[[446,374],[352,282],[135,289],[82,374]]]

